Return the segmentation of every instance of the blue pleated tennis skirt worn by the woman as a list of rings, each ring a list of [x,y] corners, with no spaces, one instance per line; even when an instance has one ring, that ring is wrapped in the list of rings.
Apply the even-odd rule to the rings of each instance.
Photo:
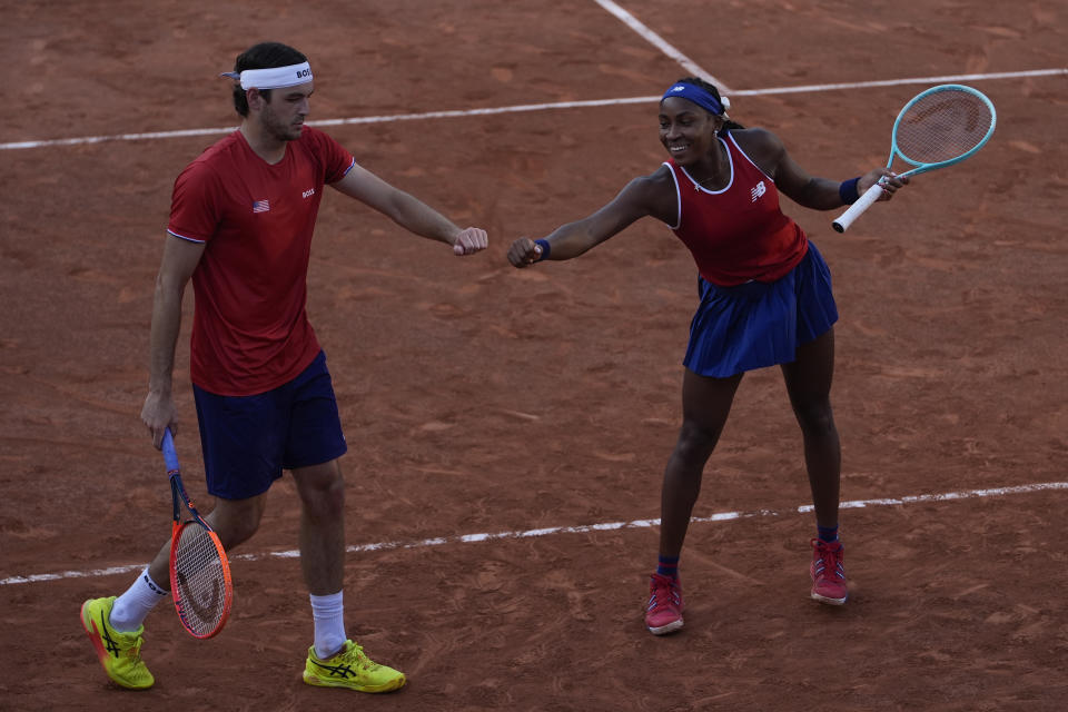
[[[719,287],[698,277],[698,294],[701,305],[682,363],[700,376],[726,378],[788,364],[799,346],[838,320],[831,271],[811,241],[804,258],[781,279]]]

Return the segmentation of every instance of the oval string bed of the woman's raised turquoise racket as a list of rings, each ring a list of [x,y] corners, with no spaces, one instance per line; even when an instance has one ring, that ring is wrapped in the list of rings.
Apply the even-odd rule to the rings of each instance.
[[[979,146],[993,121],[990,107],[960,90],[920,98],[901,116],[894,132],[898,152],[914,164],[940,164]]]

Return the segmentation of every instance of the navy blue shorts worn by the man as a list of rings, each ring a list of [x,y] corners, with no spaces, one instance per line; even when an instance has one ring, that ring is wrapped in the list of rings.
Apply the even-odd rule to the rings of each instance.
[[[255,396],[192,386],[208,492],[245,500],[267,492],[283,469],[330,462],[348,449],[326,354],[289,383]]]

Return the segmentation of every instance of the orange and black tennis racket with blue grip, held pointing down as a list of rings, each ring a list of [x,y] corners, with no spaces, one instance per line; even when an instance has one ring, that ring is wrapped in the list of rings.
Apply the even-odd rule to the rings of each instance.
[[[170,428],[164,432],[162,449],[175,505],[170,535],[170,594],[186,630],[194,637],[211,637],[222,630],[230,615],[234,602],[230,563],[218,534],[204,521],[186,494]]]

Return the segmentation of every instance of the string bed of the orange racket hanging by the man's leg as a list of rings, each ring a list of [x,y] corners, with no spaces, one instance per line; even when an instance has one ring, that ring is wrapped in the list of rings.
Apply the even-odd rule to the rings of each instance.
[[[226,613],[226,573],[218,545],[197,524],[182,527],[174,551],[175,600],[182,621],[197,635],[216,630]]]

